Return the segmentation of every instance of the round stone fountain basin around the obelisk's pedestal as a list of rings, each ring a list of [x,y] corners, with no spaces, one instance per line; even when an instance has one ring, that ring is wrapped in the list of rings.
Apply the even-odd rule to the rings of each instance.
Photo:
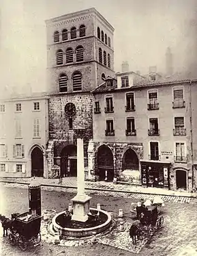
[[[95,225],[94,227],[84,227],[84,222],[78,222],[77,227],[61,227],[59,223],[57,223],[57,220],[59,219],[59,216],[63,215],[64,212],[59,212],[56,216],[52,218],[52,228],[59,232],[59,234],[63,237],[73,237],[73,238],[85,238],[92,235],[93,232],[95,233],[105,233],[106,231],[110,231],[110,228],[112,227],[112,217],[110,214],[102,209],[98,210],[95,208],[90,208],[90,212],[100,212],[101,216],[104,216],[104,222],[100,225]],[[71,220],[72,222],[72,220]],[[66,225],[65,225],[66,226]],[[69,226],[69,223],[68,223]],[[78,226],[80,228],[78,228]]]

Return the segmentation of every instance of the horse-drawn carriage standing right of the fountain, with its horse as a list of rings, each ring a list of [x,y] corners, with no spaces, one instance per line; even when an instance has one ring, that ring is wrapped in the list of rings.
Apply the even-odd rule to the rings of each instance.
[[[130,237],[133,244],[136,243],[136,238],[149,238],[151,233],[157,229],[161,229],[164,224],[164,217],[160,216],[157,205],[142,205],[137,209],[136,215],[138,220],[135,220],[130,227]]]

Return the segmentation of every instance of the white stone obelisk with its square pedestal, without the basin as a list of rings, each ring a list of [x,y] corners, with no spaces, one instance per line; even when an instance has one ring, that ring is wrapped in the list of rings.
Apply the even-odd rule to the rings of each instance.
[[[77,138],[77,194],[72,200],[72,220],[85,222],[88,219],[90,199],[85,194],[85,170],[84,170],[84,149],[82,136]]]

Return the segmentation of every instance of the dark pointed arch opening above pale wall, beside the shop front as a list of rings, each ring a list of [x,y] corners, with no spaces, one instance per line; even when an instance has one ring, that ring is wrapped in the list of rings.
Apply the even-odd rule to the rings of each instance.
[[[139,170],[139,160],[133,149],[127,149],[123,155],[123,170]]]

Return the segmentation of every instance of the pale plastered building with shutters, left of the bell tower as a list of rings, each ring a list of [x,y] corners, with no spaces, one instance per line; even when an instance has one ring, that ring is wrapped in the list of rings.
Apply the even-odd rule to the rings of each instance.
[[[0,176],[47,178],[48,97],[4,99],[0,118]]]

